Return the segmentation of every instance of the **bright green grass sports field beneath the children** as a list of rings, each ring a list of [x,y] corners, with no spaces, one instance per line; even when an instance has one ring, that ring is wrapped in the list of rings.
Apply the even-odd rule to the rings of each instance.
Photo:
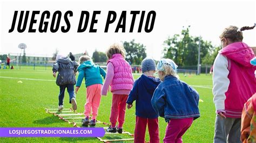
[[[183,136],[184,142],[213,142],[215,108],[212,102],[212,76],[201,74],[191,77],[180,74],[180,79],[194,86],[199,92],[201,117],[195,120],[189,130]],[[13,77],[13,78],[6,78]],[[138,78],[139,75],[134,75]],[[31,80],[39,79],[39,80]],[[17,83],[22,81],[23,83]],[[86,89],[83,86],[76,95],[78,112],[84,112]],[[1,69],[0,70],[0,127],[72,127],[58,117],[44,111],[45,108],[58,107],[59,88],[52,76],[51,68],[22,67],[22,69]],[[98,120],[109,123],[112,95],[102,97],[100,103]],[[64,107],[70,108],[68,103],[68,92],[65,93]],[[135,105],[135,103],[134,103]],[[126,110],[124,130],[134,133],[135,106]],[[164,118],[159,117],[160,141],[163,142],[165,135]],[[123,137],[124,135],[122,135]],[[117,135],[106,135],[107,139],[120,138]],[[126,136],[127,137],[127,136]],[[146,133],[146,140],[149,141],[149,134]],[[1,142],[99,142],[97,138],[0,138]]]

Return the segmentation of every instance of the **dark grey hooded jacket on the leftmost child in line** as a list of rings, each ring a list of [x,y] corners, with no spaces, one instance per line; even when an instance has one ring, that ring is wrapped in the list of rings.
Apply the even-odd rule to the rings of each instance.
[[[52,71],[57,73],[56,79],[57,85],[76,84],[76,77],[74,71],[76,71],[78,63],[71,61],[69,57],[62,57],[57,60],[52,67]]]

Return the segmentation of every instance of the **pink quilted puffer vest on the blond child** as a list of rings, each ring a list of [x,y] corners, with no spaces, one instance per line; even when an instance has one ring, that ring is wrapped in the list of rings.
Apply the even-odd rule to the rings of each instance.
[[[113,54],[112,58],[107,62],[111,62],[114,66],[114,77],[111,82],[111,92],[116,90],[131,90],[132,69],[127,61],[124,60],[121,54]]]

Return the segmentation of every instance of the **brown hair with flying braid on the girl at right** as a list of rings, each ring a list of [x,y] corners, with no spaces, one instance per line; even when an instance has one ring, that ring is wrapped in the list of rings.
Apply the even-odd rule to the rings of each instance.
[[[244,27],[241,27],[240,29],[238,29],[237,26],[228,26],[224,29],[223,33],[221,33],[220,39],[228,38],[231,40],[231,42],[241,42],[242,39],[244,38],[242,36],[242,31],[251,30],[254,27],[255,27],[255,25],[252,27],[244,26]]]

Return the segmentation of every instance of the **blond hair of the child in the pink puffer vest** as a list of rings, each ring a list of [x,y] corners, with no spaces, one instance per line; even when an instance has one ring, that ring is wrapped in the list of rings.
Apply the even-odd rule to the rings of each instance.
[[[121,54],[125,58],[124,46],[118,43],[112,44],[106,51],[107,58],[111,59],[113,54]]]

